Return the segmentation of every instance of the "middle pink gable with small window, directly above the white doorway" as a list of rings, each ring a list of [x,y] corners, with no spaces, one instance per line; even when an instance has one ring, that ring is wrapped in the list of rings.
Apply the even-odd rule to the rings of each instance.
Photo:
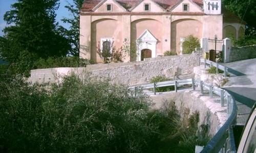
[[[164,9],[157,3],[151,0],[144,0],[138,3],[136,6],[130,9],[131,12],[144,12],[145,5],[148,5],[149,10],[147,12],[163,12]]]

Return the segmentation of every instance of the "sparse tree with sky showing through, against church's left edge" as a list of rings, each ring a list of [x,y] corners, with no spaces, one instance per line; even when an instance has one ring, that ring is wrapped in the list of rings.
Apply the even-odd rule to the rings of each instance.
[[[69,54],[79,56],[79,29],[80,29],[80,9],[84,0],[73,0],[74,5],[68,2],[65,6],[71,13],[72,18],[63,18],[64,23],[70,24],[70,30],[64,29],[66,37],[72,45],[71,52]]]

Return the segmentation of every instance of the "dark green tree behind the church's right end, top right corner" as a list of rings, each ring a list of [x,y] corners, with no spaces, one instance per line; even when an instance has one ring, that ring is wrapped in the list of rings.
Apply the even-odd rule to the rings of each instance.
[[[256,35],[256,1],[223,0],[223,5],[247,22],[246,35]]]

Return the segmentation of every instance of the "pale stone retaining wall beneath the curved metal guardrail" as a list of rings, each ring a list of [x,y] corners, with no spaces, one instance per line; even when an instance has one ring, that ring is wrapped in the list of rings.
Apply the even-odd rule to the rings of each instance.
[[[200,91],[191,90],[156,95],[151,98],[155,103],[153,109],[160,109],[164,101],[174,101],[181,115],[182,110],[189,110],[189,115],[198,111],[200,113],[199,127],[207,127],[211,137],[227,120],[227,114],[224,111],[226,107],[221,107],[219,99],[210,98],[208,93],[202,94]]]

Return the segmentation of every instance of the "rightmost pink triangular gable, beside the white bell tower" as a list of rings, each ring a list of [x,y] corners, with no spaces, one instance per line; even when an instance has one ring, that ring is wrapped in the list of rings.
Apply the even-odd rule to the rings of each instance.
[[[187,10],[184,10],[184,5]],[[171,12],[202,12],[202,8],[198,6],[196,3],[190,0],[183,0],[174,5],[171,9]]]

